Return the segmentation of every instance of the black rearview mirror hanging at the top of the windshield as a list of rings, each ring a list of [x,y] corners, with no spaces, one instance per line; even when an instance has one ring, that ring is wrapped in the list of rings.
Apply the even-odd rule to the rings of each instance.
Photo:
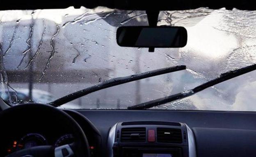
[[[187,30],[184,27],[119,27],[117,44],[125,47],[184,47],[187,44]]]

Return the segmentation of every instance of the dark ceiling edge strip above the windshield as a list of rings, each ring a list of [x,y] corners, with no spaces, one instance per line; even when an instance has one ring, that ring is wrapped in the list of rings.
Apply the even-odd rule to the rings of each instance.
[[[90,9],[103,6],[123,10],[187,10],[199,7],[256,10],[254,0],[20,0],[2,2],[0,10],[63,9],[70,6]]]

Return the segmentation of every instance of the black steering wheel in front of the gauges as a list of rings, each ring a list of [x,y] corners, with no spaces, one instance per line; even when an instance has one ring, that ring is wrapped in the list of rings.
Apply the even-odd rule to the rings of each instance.
[[[11,123],[21,117],[24,123],[31,123],[31,125],[33,125],[36,120],[43,122],[44,119],[51,119],[56,121],[56,123],[63,123],[66,125],[64,127],[69,127],[72,130],[74,142],[59,147],[34,146],[18,150],[6,157],[89,157],[89,144],[85,133],[78,123],[64,111],[44,104],[22,104],[13,106],[0,113],[1,130],[2,128],[8,129]],[[51,129],[50,126],[47,127],[47,129],[48,128]]]

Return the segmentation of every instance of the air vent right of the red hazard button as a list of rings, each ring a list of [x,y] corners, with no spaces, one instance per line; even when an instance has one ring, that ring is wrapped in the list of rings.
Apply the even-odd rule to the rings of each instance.
[[[182,143],[181,129],[157,128],[157,141],[163,143]]]

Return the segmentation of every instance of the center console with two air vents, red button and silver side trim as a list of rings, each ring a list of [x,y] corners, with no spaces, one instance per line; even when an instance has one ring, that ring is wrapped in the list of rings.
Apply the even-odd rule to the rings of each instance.
[[[192,130],[179,122],[119,122],[108,151],[109,157],[196,157]]]

